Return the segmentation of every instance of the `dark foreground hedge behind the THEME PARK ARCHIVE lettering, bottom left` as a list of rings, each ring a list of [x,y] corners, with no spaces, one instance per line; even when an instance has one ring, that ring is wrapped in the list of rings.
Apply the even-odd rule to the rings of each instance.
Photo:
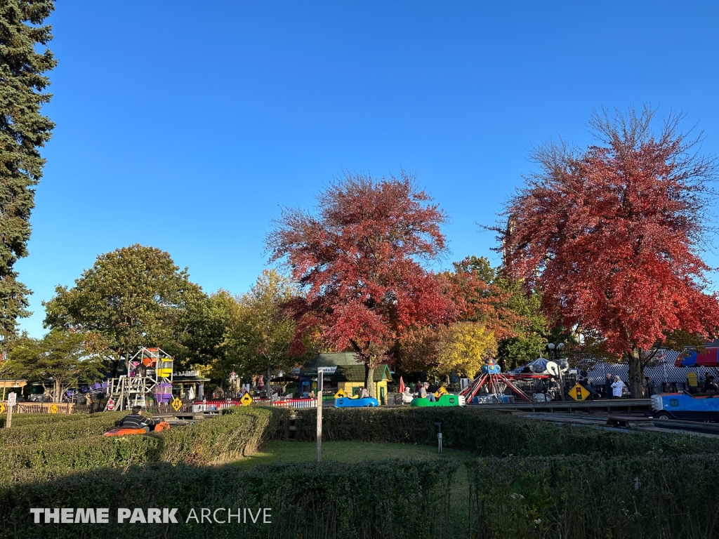
[[[52,538],[441,538],[449,528],[457,462],[390,460],[233,466],[150,464],[96,470],[0,489],[0,539]],[[29,507],[108,507],[103,525],[40,524]],[[118,507],[178,507],[178,524],[117,524]],[[185,523],[191,508],[271,510],[271,524]],[[224,520],[226,512],[219,512]],[[262,520],[260,520],[262,522]]]

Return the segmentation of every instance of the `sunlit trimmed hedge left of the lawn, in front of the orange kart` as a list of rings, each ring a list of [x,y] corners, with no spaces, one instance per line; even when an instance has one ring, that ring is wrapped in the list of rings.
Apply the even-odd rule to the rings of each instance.
[[[278,418],[283,415],[288,411],[239,408],[162,433],[7,444],[0,451],[0,484],[46,480],[96,468],[127,469],[150,462],[206,465],[240,459],[275,435]]]

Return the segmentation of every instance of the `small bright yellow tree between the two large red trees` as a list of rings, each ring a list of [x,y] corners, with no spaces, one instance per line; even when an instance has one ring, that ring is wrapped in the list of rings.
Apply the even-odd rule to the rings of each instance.
[[[436,372],[473,378],[485,358],[497,352],[494,334],[483,324],[459,322],[443,331],[437,345]]]

